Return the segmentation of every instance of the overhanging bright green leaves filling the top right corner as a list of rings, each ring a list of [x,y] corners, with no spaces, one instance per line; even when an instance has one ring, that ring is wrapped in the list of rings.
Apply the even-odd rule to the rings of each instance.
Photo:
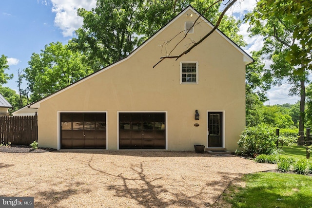
[[[264,20],[264,21],[263,21]],[[286,61],[303,75],[305,69],[312,70],[312,2],[297,0],[260,0],[254,11],[245,16],[252,35],[274,38],[281,43],[276,50],[288,49]],[[273,46],[265,41],[265,47]],[[275,44],[276,45],[276,44]]]

